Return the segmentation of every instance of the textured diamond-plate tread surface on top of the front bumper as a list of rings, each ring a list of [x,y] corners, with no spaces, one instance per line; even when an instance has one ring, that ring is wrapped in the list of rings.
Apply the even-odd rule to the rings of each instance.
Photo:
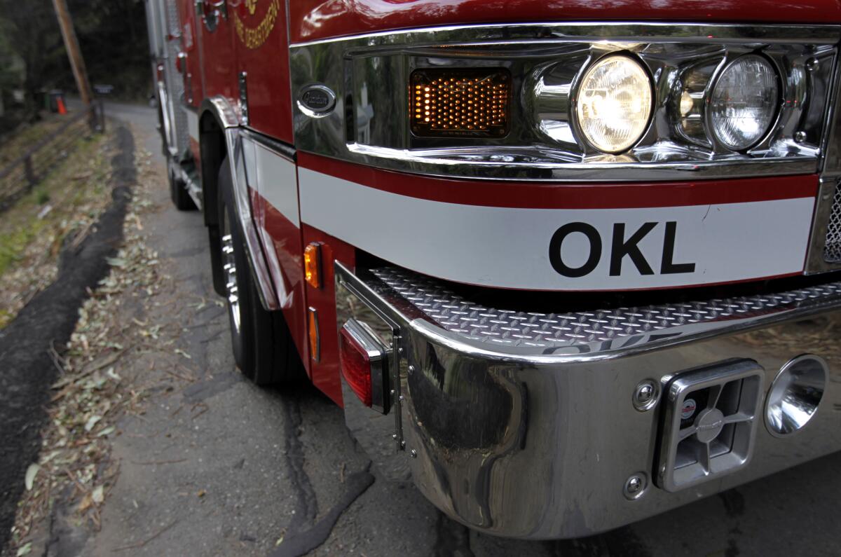
[[[763,295],[536,313],[474,304],[446,283],[402,268],[373,268],[370,273],[447,331],[507,347],[563,348],[594,342],[615,345],[615,341],[641,336],[648,339],[643,342],[649,342],[655,336],[664,336],[652,333],[674,332],[677,336],[680,328],[697,332],[739,320],[841,303],[841,282],[832,282]]]

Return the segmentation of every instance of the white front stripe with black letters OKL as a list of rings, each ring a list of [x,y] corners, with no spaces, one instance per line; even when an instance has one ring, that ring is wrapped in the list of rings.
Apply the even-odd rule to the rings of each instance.
[[[813,198],[797,198],[510,209],[298,173],[304,223],[419,273],[510,289],[651,289],[800,273],[814,206]]]

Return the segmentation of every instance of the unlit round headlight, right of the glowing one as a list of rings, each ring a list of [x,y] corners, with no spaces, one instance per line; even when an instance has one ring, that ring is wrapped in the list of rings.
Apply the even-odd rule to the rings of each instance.
[[[779,97],[777,75],[769,61],[755,54],[737,58],[712,89],[712,133],[733,151],[754,146],[773,123]]]

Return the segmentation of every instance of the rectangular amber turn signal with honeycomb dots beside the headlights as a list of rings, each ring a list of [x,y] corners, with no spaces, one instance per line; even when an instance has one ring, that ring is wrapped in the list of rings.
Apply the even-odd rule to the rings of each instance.
[[[422,69],[410,78],[411,130],[420,137],[508,133],[511,76],[502,68]]]

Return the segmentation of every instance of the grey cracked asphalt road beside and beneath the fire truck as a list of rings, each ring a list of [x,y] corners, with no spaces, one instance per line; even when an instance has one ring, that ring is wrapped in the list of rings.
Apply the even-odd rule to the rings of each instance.
[[[193,305],[214,298],[205,231],[198,213],[179,213],[167,202],[154,110],[109,103],[107,112],[129,121],[137,146],[155,154],[161,210],[145,226],[176,285],[149,318],[182,323],[198,380],[153,395],[142,419],[120,423],[124,434],[114,452],[124,464],[103,529],[66,547],[94,555],[113,555],[115,546],[138,540],[128,553],[293,549],[290,541],[311,539],[310,528],[341,506],[367,459],[348,438],[341,410],[317,391],[261,390],[241,379],[225,311]],[[132,464],[142,462],[161,464]],[[841,554],[839,465],[841,454],[834,454],[611,533],[559,542],[469,532],[412,485],[389,483],[372,470],[373,485],[312,554]]]

